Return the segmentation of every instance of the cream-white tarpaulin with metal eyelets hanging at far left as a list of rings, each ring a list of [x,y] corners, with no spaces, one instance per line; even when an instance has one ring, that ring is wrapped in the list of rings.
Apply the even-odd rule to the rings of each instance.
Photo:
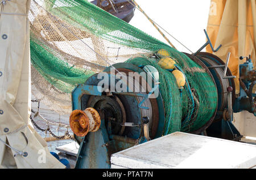
[[[0,3],[0,168],[65,168],[29,120],[30,0]]]

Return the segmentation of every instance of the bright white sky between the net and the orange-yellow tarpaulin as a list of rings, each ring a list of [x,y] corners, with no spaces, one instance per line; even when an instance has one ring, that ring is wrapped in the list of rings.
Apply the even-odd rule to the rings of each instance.
[[[204,45],[206,41],[204,29],[207,28],[210,0],[136,0],[136,2],[152,20],[192,52],[196,52]],[[135,10],[130,24],[168,44],[142,12]],[[191,53],[171,36],[164,34],[177,50]]]

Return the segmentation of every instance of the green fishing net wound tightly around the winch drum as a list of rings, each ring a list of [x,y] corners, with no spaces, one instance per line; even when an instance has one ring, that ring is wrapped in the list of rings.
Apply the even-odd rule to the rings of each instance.
[[[165,52],[163,55],[170,53]],[[212,123],[217,111],[217,89],[212,74],[198,58],[196,61],[181,61],[173,57],[172,59],[177,64],[176,70],[163,69],[158,64],[158,57],[138,57],[126,62],[137,66],[152,65],[159,70],[160,94],[167,110],[164,135],[175,131],[203,132]],[[174,71],[186,78],[187,85],[183,91],[180,91],[180,87],[185,84],[184,77],[183,84],[177,84],[175,73],[171,73]]]

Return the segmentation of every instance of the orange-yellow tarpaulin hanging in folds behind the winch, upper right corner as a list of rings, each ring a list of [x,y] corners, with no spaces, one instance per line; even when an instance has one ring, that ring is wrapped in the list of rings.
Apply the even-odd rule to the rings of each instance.
[[[214,48],[222,44],[214,55],[224,62],[231,52],[229,69],[236,76],[236,93],[239,92],[240,56],[249,56],[255,63],[256,2],[255,0],[212,0],[207,32]],[[212,53],[208,46],[207,52]]]

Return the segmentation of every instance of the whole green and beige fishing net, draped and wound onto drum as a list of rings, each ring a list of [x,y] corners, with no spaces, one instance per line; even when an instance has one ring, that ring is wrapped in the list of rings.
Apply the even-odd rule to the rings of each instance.
[[[88,1],[31,0],[28,18],[32,93],[60,114],[71,113],[71,92],[77,84],[127,60],[158,69],[166,110],[164,134],[195,131],[216,110],[216,87],[200,65]],[[182,95],[172,73],[149,58],[159,49],[166,49],[187,77]]]

